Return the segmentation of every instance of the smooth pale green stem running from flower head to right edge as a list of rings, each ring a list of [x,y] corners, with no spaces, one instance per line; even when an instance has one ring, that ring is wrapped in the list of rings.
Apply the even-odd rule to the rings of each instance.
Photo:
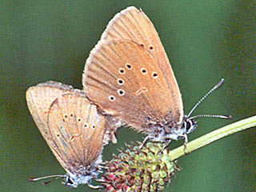
[[[186,153],[189,154],[194,150],[198,150],[202,146],[206,146],[211,142],[215,142],[220,138],[224,138],[230,134],[237,133],[241,130],[250,129],[256,126],[256,116],[251,118],[243,119],[239,122],[234,122],[228,126],[224,126],[218,130],[214,130],[209,134],[205,134],[200,138],[194,139],[194,141],[187,143]],[[185,155],[184,146],[179,146],[178,148],[171,150],[169,157],[171,161],[174,161]]]

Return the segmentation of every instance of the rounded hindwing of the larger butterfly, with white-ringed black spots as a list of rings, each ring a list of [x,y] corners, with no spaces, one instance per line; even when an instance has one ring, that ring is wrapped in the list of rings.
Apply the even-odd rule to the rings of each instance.
[[[103,112],[138,130],[160,120],[175,105],[166,79],[150,51],[136,42],[97,45],[86,62],[84,89]],[[171,111],[172,117],[180,114]]]

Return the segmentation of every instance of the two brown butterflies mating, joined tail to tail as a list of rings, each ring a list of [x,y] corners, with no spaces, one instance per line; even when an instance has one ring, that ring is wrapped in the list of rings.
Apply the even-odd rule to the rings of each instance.
[[[119,126],[147,134],[145,141],[167,144],[187,140],[197,126],[189,118],[194,109],[183,114],[182,96],[153,24],[134,6],[106,26],[86,61],[82,84],[84,91],[45,82],[26,92],[38,129],[67,172],[56,176],[66,178],[67,186],[94,187],[90,179],[100,171],[102,146],[115,142]]]

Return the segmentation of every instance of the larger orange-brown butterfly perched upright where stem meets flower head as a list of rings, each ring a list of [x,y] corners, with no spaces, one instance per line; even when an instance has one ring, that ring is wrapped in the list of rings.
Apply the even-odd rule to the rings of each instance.
[[[168,145],[172,139],[187,142],[186,135],[197,126],[194,118],[199,117],[190,114],[223,79],[184,115],[178,83],[158,33],[142,10],[130,6],[106,26],[86,61],[82,82],[90,101],[112,122],[146,133],[144,142]]]

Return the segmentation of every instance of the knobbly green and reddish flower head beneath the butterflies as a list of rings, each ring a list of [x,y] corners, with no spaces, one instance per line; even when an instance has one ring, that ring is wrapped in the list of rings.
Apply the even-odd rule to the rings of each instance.
[[[121,154],[108,162],[102,176],[105,191],[161,191],[170,183],[175,162],[170,161],[169,150],[163,144],[148,142],[141,150],[138,146],[127,146]]]

